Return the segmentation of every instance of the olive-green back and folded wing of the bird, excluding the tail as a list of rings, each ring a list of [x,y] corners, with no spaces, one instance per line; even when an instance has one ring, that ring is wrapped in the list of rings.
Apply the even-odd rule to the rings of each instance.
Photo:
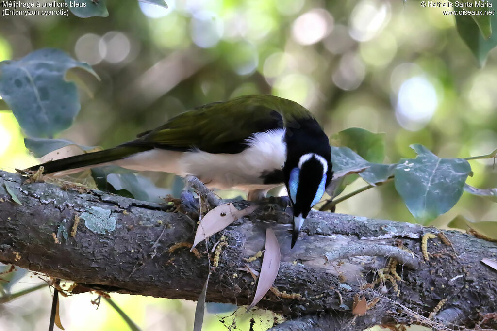
[[[155,130],[144,132],[128,144],[180,151],[198,148],[209,153],[239,153],[247,147],[246,139],[251,134],[282,129],[286,117],[310,116],[301,106],[304,111],[295,111],[280,102],[288,100],[245,96],[204,105],[170,119]]]

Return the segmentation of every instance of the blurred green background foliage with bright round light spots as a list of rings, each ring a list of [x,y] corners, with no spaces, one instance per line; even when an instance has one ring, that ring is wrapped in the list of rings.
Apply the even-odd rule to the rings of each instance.
[[[349,127],[386,132],[384,163],[413,158],[413,143],[440,157],[462,158],[497,146],[497,51],[480,68],[457,34],[454,16],[442,14],[446,8],[402,0],[166,2],[167,9],[110,0],[108,17],[85,19],[4,16],[0,61],[54,47],[91,65],[101,81],[78,73],[79,86],[85,86],[82,109],[74,125],[57,136],[86,146],[112,147],[195,106],[249,93],[301,103],[330,135]],[[38,163],[23,137],[13,115],[0,111],[2,169]],[[468,184],[497,186],[492,159],[471,161],[471,166]],[[168,193],[181,189],[172,175],[144,175]],[[343,194],[364,185],[359,179]],[[336,211],[414,222],[393,183],[347,199]],[[459,214],[495,221],[497,204],[464,193],[433,224],[446,226]],[[38,281],[28,274],[14,286]],[[192,302],[112,297],[145,330],[192,328]],[[61,299],[66,330],[125,328],[105,303],[95,311],[92,299],[90,294]],[[42,290],[1,305],[0,325],[45,330],[50,300],[49,291]],[[240,314],[241,330],[248,330],[252,316],[259,330],[272,325],[272,316]],[[224,329],[218,320],[210,315],[205,330]]]

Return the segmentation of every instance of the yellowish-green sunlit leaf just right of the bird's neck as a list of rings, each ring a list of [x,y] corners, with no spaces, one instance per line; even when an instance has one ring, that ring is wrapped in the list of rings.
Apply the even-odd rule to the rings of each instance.
[[[385,158],[385,133],[348,128],[333,134],[330,141],[332,146],[348,147],[369,162],[381,163]]]

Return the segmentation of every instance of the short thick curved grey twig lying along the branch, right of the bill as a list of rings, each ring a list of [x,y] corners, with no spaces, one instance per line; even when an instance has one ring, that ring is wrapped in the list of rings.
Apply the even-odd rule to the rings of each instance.
[[[347,259],[355,256],[383,256],[385,258],[394,258],[401,265],[411,269],[419,267],[419,261],[411,253],[401,250],[400,248],[388,245],[347,245],[339,250],[325,254],[328,262]]]

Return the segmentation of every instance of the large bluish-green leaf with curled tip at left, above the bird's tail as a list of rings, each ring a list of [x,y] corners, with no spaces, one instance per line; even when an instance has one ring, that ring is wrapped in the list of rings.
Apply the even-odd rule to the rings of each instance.
[[[76,85],[64,75],[75,67],[98,77],[87,64],[52,48],[0,62],[0,95],[28,135],[51,137],[72,125],[81,105]]]

